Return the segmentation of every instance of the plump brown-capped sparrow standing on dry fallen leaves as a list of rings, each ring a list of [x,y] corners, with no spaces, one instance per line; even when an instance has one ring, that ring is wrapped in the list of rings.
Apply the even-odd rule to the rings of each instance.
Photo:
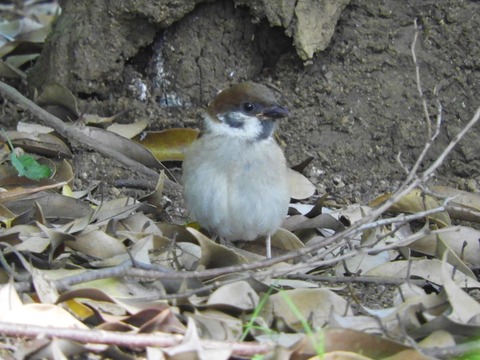
[[[265,236],[267,258],[290,203],[287,162],[273,137],[288,115],[266,86],[236,84],[209,103],[183,161],[189,214],[223,242]]]

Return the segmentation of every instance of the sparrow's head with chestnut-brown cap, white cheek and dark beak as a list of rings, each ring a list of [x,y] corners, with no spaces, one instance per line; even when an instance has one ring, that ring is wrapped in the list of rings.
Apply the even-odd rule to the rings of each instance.
[[[276,120],[288,115],[288,110],[278,105],[269,88],[243,82],[221,91],[210,102],[204,131],[213,135],[263,140],[273,135]]]

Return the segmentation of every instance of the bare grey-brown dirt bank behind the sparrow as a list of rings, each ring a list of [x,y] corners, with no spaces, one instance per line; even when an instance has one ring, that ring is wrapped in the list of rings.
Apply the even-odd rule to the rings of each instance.
[[[73,17],[83,11],[83,5],[75,8],[75,3],[66,2]],[[90,40],[83,44],[108,50],[117,40],[105,36],[97,13],[101,11],[90,13],[88,30],[68,31],[87,33]],[[309,61],[298,57],[282,28],[254,19],[247,7],[231,1],[199,4],[173,24],[134,28],[131,18],[125,19],[115,30],[124,31],[119,58],[84,52],[82,41],[62,42],[67,30],[57,28],[51,38],[56,52],[46,45],[29,75],[30,88],[59,81],[82,100],[83,111],[110,116],[129,109],[121,122],[147,118],[149,130],[161,130],[199,127],[202,109],[229,84],[271,84],[292,113],[278,131],[289,163],[313,157],[306,175],[319,192],[349,202],[367,203],[393,190],[405,177],[397,155],[411,166],[427,140],[410,50],[415,19],[416,54],[433,121],[437,101],[443,108],[441,133],[423,168],[480,106],[479,1],[351,0],[328,48]],[[61,70],[49,62],[51,54],[63,61]],[[447,158],[435,183],[478,191],[477,132],[478,127]],[[169,166],[180,174],[179,163]],[[101,181],[103,195],[138,195],[137,190],[116,188],[114,182],[140,176],[99,154],[77,149],[74,169],[78,189]],[[169,220],[180,221],[181,195],[166,197]],[[371,288],[362,294],[377,302],[378,292]]]

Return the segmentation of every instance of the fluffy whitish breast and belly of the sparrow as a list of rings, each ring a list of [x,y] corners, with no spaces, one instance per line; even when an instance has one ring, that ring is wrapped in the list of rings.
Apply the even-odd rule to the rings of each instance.
[[[187,151],[183,169],[191,216],[225,240],[271,235],[287,214],[286,161],[273,139],[207,134]]]

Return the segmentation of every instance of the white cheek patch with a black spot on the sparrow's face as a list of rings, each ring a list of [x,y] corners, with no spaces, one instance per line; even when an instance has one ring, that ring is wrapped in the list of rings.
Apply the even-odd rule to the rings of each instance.
[[[214,122],[208,116],[205,118],[212,134],[233,136],[236,138],[257,139],[263,131],[261,120],[241,112],[229,112],[218,116],[219,122]]]

